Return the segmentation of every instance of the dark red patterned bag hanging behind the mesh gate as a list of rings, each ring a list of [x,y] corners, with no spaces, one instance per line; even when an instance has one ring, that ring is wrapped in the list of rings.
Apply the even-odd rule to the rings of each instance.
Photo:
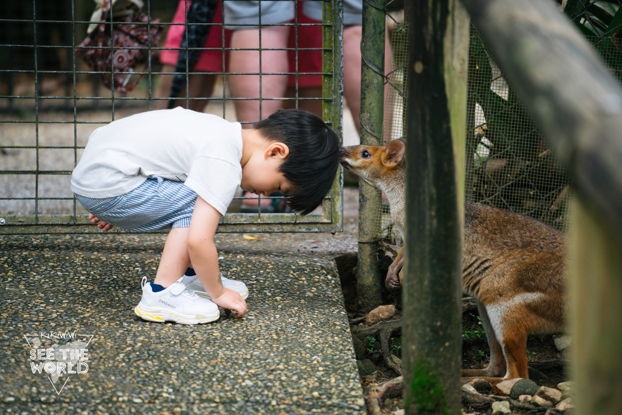
[[[113,0],[113,4],[116,0]],[[119,2],[120,3],[120,2]],[[142,2],[139,2],[142,5]],[[113,9],[113,50],[114,54],[111,59],[111,36],[108,11],[110,9],[110,0],[101,1],[100,23],[91,26],[98,26],[96,30],[90,28],[88,36],[80,44],[80,47],[89,49],[77,49],[76,55],[81,57],[85,63],[93,70],[100,72],[101,81],[107,88],[112,88],[111,75],[114,68],[114,90],[119,92],[130,92],[140,82],[143,75],[128,85],[129,79],[136,65],[143,60],[146,49],[124,49],[124,48],[147,48],[149,47],[149,38],[151,37],[151,47],[157,47],[162,35],[162,26],[157,24],[160,19],[151,20],[151,33],[147,23],[149,18],[140,9],[126,8],[121,12]],[[98,8],[93,16],[100,12]],[[93,21],[93,18],[91,18]],[[114,66],[113,66],[114,65]],[[129,72],[129,73],[119,73]]]

